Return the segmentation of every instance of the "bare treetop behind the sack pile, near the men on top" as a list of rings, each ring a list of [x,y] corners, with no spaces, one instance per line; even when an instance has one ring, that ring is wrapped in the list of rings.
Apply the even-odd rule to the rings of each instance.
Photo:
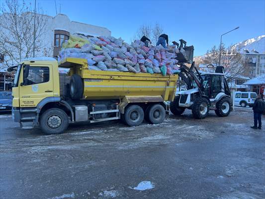
[[[138,28],[135,36],[131,40],[134,41],[136,39],[141,39],[142,36],[146,36],[152,41],[152,43],[156,43],[162,32],[163,28],[159,23],[156,23],[155,25],[143,24]]]

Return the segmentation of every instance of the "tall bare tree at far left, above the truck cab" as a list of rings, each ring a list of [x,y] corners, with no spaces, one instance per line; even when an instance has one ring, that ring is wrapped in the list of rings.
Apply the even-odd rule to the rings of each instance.
[[[47,28],[48,17],[41,9],[36,10],[35,52],[43,55],[42,36]],[[19,63],[33,55],[34,10],[31,4],[19,0],[6,0],[0,10],[0,52],[5,55],[2,68]],[[48,48],[45,49],[48,54]],[[49,52],[50,54],[50,52]]]

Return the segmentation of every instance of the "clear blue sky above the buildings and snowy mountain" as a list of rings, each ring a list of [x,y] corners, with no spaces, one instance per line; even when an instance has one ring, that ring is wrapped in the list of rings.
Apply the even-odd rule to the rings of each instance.
[[[32,2],[33,0],[26,0]],[[130,42],[139,26],[159,23],[171,41],[184,39],[203,55],[213,45],[231,45],[265,35],[265,0],[36,0],[44,13],[103,26]],[[61,7],[61,11],[60,11]]]

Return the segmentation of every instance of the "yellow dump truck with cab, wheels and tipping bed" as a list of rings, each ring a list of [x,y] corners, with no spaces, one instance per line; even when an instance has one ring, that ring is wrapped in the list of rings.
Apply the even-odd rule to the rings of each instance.
[[[68,68],[60,74],[60,68]],[[129,126],[165,118],[164,100],[173,101],[177,75],[89,70],[86,59],[30,59],[16,69],[12,118],[22,128],[40,126],[62,133],[69,123],[121,119]]]

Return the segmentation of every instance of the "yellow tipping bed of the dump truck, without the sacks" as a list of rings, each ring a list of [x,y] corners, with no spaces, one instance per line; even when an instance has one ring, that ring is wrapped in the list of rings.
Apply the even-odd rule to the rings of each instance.
[[[89,70],[86,59],[66,58],[59,67],[70,68],[84,81],[86,99],[122,99],[125,96],[162,96],[174,100],[177,75]]]

